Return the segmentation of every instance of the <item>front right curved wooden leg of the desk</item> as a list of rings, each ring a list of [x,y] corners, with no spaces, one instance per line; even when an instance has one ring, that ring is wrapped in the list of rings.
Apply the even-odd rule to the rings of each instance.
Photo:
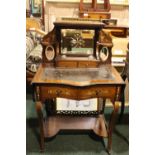
[[[112,132],[113,132],[113,129],[115,127],[115,123],[116,123],[116,116],[117,116],[117,113],[118,113],[118,110],[119,110],[119,102],[114,102],[113,103],[113,106],[114,106],[114,110],[111,114],[111,118],[110,118],[110,122],[109,122],[109,126],[108,126],[108,145],[107,145],[107,151],[108,153],[110,154],[110,151],[111,151],[111,145],[112,145]]]

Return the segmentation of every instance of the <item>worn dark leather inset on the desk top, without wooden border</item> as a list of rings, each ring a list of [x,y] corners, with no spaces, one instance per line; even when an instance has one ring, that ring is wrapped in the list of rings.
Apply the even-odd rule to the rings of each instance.
[[[111,68],[101,66],[99,68],[45,68],[42,73],[42,80],[69,80],[69,81],[90,81],[90,80],[113,80]]]

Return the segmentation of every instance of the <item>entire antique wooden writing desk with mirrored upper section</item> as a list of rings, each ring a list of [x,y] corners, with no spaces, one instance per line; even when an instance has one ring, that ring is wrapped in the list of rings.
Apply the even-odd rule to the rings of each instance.
[[[109,152],[124,81],[110,64],[111,44],[104,43],[99,35],[104,24],[76,22],[56,22],[54,30],[42,41],[43,63],[32,80],[40,122],[40,149],[44,150],[44,138],[56,135],[61,129],[72,129],[93,130],[108,138]],[[103,103],[98,103],[97,113],[91,115],[64,115],[52,106],[57,98],[76,101],[101,98]],[[102,114],[107,98],[113,104],[108,124]],[[42,109],[47,101],[51,102],[48,107],[51,113],[44,118]]]

